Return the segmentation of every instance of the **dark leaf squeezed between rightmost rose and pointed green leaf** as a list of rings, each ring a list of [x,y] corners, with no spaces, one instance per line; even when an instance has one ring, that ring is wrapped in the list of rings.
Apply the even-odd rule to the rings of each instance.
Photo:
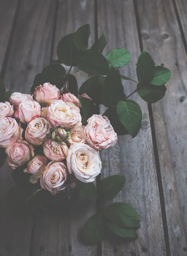
[[[110,107],[107,108],[103,116],[107,116],[110,120],[110,124],[114,128],[114,131],[118,135],[125,135],[128,134],[127,130],[124,128],[124,126],[121,124],[118,114],[116,112],[116,107]]]

